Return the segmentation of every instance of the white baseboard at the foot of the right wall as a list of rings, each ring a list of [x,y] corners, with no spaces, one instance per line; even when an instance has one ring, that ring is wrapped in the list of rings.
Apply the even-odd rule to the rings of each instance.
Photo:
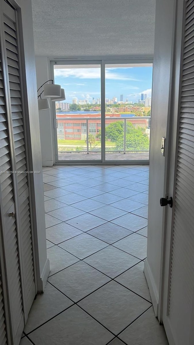
[[[145,259],[144,262],[144,274],[147,280],[147,285],[149,288],[149,293],[152,299],[152,303],[153,303],[153,308],[154,308],[154,312],[155,315],[158,316],[158,302],[159,302],[159,296],[158,296],[158,292],[157,292],[157,288],[156,288],[156,284],[152,275],[152,271],[149,267],[149,264],[147,262],[147,259]]]

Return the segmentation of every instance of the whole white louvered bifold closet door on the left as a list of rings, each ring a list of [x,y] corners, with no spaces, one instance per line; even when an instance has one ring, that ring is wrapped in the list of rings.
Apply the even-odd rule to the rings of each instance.
[[[0,6],[0,229],[9,305],[5,319],[0,280],[0,344],[18,345],[36,295],[35,268],[17,11],[4,0]]]

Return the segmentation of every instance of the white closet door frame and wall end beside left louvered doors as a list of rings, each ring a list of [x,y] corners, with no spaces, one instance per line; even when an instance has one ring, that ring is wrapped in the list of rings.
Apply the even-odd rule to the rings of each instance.
[[[0,0],[1,2],[2,0]],[[24,126],[26,148],[28,150],[27,165],[30,171],[39,171],[39,174],[29,174],[29,200],[31,213],[31,235],[33,249],[33,266],[36,294],[42,293],[50,272],[49,260],[46,252],[46,233],[43,234],[45,221],[42,222],[44,198],[38,193],[43,192],[42,161],[39,133],[39,112],[37,101],[37,82],[34,47],[30,42],[33,38],[32,8],[24,0],[6,0],[17,12],[18,34],[20,47],[18,52],[21,59],[21,85],[23,93],[23,111],[25,112]],[[35,76],[35,77],[34,77]],[[36,141],[33,138],[36,137]],[[38,175],[40,175],[38,177]],[[38,177],[38,178],[37,178]],[[43,267],[43,268],[42,268]]]

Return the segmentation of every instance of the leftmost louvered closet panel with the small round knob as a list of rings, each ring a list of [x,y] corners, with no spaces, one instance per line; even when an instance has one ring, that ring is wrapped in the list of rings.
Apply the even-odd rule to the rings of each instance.
[[[2,55],[1,55],[2,57]],[[1,58],[2,60],[2,58]],[[4,75],[1,61],[1,107],[0,107],[0,206],[1,229],[4,248],[4,259],[7,266],[7,289],[10,303],[11,327],[13,337],[17,338],[18,331],[24,325],[21,276],[18,250],[17,225],[15,218],[15,200],[13,186],[13,162],[11,159],[10,131],[8,111],[6,105]],[[10,217],[10,214],[12,216]]]

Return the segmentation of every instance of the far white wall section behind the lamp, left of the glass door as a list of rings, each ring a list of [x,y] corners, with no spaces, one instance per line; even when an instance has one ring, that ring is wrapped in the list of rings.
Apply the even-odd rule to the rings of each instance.
[[[37,90],[38,90],[39,87],[45,81],[51,78],[50,78],[49,63],[48,63],[47,57],[36,56],[35,61],[36,61]],[[43,88],[41,88],[40,92],[42,90]],[[52,139],[53,120],[51,118],[50,110],[39,111],[39,123],[40,123],[42,166],[52,166],[55,159],[54,159],[54,140]]]

